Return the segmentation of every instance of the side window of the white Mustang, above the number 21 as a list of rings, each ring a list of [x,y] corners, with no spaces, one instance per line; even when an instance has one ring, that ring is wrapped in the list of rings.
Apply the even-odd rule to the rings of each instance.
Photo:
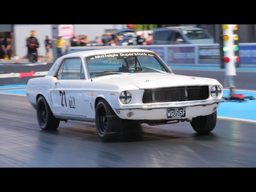
[[[84,79],[82,60],[80,58],[64,60],[58,70],[56,78],[61,80]]]

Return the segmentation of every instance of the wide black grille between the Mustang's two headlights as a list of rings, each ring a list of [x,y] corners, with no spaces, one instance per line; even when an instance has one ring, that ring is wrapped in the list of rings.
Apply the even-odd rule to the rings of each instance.
[[[146,89],[143,94],[143,103],[175,102],[206,100],[209,97],[208,86],[182,86]]]

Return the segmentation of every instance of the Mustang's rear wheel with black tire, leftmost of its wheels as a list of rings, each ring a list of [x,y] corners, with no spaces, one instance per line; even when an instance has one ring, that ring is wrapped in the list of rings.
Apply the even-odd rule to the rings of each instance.
[[[39,96],[37,100],[37,120],[40,128],[44,130],[56,130],[60,124],[60,120],[56,119],[43,96]]]

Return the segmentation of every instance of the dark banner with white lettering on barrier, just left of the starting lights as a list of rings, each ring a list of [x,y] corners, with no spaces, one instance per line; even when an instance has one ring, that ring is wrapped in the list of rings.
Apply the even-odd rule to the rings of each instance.
[[[219,46],[199,46],[198,63],[220,64]]]

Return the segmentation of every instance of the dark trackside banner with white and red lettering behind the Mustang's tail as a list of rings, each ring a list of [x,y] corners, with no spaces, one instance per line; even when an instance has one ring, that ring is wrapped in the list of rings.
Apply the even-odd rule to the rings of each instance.
[[[44,77],[53,62],[10,64],[0,66],[0,86],[10,84],[26,84],[29,79]]]

